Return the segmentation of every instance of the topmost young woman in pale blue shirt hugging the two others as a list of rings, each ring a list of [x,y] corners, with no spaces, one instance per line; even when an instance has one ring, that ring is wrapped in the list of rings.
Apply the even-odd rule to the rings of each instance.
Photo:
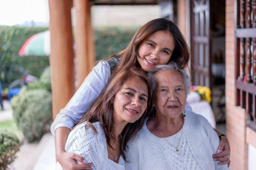
[[[78,155],[66,153],[64,146],[70,129],[82,119],[84,112],[100,95],[110,74],[131,66],[151,72],[157,66],[169,62],[176,62],[182,68],[186,68],[189,62],[189,48],[177,26],[164,18],[151,20],[143,25],[135,33],[125,50],[99,62],[67,106],[60,110],[51,125],[51,133],[55,135],[56,141],[56,158],[62,167],[66,167],[68,170],[89,167],[89,165],[78,166],[77,160],[81,163],[83,161],[86,163],[86,161]],[[188,104],[186,104],[185,110],[192,111]],[[216,133],[221,134],[218,131]],[[225,160],[223,156],[230,154],[227,138],[222,138],[218,150],[223,150],[223,152],[215,155],[215,158],[220,161]]]

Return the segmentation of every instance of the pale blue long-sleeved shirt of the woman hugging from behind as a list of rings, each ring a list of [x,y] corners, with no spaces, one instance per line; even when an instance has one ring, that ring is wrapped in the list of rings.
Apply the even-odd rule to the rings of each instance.
[[[52,135],[55,136],[55,130],[59,127],[72,129],[84,117],[85,112],[87,112],[107,85],[109,77],[110,65],[107,61],[101,61],[93,67],[66,107],[61,109],[59,114],[56,115],[51,125]],[[186,103],[185,110],[192,111],[188,102]]]

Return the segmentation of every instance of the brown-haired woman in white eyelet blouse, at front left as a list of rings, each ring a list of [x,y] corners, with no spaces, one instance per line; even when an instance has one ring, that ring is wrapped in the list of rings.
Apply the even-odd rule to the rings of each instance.
[[[151,86],[143,71],[127,68],[110,77],[96,102],[69,133],[65,150],[81,155],[94,170],[124,170],[127,142],[148,115]],[[57,163],[56,170],[61,170]]]

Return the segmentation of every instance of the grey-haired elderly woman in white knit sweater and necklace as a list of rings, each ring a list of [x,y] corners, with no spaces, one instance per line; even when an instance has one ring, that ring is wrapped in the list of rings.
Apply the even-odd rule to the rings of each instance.
[[[227,165],[218,165],[212,158],[220,139],[209,122],[184,111],[190,85],[187,73],[172,62],[148,75],[154,107],[143,128],[128,143],[125,169],[228,170]]]

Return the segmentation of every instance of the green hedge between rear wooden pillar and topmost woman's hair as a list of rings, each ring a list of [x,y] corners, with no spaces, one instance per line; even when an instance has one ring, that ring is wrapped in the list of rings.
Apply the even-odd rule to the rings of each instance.
[[[96,60],[124,50],[138,27],[103,27],[94,30]]]

